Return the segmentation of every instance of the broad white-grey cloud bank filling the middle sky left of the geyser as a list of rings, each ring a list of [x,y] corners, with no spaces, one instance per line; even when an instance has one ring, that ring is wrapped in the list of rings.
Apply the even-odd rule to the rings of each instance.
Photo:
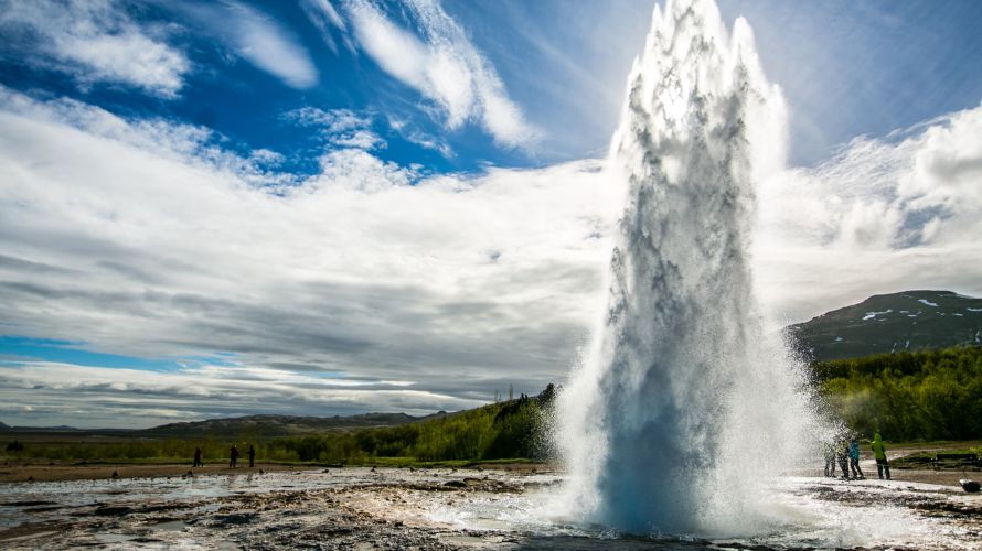
[[[565,372],[600,305],[616,209],[596,161],[427,175],[334,148],[319,174],[298,177],[201,127],[0,91],[0,334],[192,358],[195,381],[231,354],[279,411],[421,412],[484,403],[510,383],[538,391]],[[356,127],[341,112],[288,118]],[[103,414],[214,411],[169,401],[167,385],[213,392],[188,374],[11,361],[0,363],[8,380],[38,387],[7,392],[11,403],[82,408],[90,396],[87,411]],[[82,389],[98,395],[70,400]]]

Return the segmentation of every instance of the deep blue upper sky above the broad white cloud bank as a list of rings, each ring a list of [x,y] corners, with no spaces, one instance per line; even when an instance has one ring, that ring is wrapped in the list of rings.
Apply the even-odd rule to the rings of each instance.
[[[280,118],[305,106],[348,109],[371,119],[369,128],[386,141],[376,154],[386,161],[435,171],[470,171],[487,163],[542,166],[605,152],[652,8],[640,1],[418,2],[415,10],[413,3],[378,4],[370,15],[420,44],[457,40],[453,53],[482,57],[530,134],[525,147],[495,147],[494,136],[473,112],[480,95],[474,105],[461,100],[457,106],[471,111],[466,122],[450,121],[439,105],[446,96],[427,95],[427,83],[386,71],[386,63],[407,60],[389,60],[392,54],[359,42],[359,29],[367,23],[360,26],[352,14],[374,4],[337,3],[113,4],[131,24],[152,29],[183,62],[168,67],[173,82],[136,87],[140,80],[127,82],[122,73],[92,75],[84,62],[38,52],[45,32],[54,31],[17,21],[4,25],[3,84],[77,98],[124,116],[204,125],[243,147],[287,154],[292,171],[317,170],[316,155],[306,151],[321,145],[311,129]],[[337,23],[323,6],[333,9]],[[976,2],[765,0],[722,1],[719,7],[726,21],[739,15],[750,21],[768,75],[786,91],[794,164],[820,161],[855,136],[886,136],[979,101],[982,7]],[[427,35],[425,18],[433,14],[426,10],[456,26],[459,36],[446,29],[439,31],[444,35]],[[257,54],[264,48],[269,60]],[[472,83],[478,78],[453,71],[447,78],[468,76]],[[396,129],[393,122],[403,126]],[[408,139],[414,132],[417,139]],[[429,147],[414,143],[424,140]],[[433,149],[436,144],[445,144],[447,154]]]

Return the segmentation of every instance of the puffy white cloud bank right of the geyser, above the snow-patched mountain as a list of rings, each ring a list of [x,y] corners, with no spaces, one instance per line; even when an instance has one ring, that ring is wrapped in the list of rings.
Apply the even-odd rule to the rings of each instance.
[[[982,107],[856,138],[760,192],[768,301],[807,318],[874,293],[982,295]]]

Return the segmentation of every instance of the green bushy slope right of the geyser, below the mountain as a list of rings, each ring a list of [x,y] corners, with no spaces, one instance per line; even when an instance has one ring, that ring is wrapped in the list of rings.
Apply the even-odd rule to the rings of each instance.
[[[812,366],[831,413],[865,437],[982,439],[982,348],[899,352]]]

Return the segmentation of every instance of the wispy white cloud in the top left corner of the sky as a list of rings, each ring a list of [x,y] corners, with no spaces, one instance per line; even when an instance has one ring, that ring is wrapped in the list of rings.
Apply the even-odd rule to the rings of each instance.
[[[178,97],[192,63],[169,46],[168,28],[131,20],[111,0],[4,2],[4,48],[35,66],[71,74],[82,88],[126,85]],[[28,31],[28,34],[24,34]]]

